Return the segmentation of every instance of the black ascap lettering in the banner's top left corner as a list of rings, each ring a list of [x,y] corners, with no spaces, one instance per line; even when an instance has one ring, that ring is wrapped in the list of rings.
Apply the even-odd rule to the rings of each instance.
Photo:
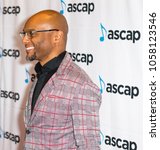
[[[14,14],[17,16],[17,14],[19,14],[21,11],[21,8],[20,6],[4,6],[3,7],[3,14],[6,15],[6,14]]]

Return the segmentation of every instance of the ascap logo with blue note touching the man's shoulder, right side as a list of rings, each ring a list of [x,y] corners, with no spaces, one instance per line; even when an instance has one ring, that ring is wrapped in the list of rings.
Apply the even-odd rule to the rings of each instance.
[[[139,88],[137,86],[105,83],[100,76],[99,76],[99,83],[100,83],[101,93],[103,93],[105,90],[107,93],[130,96],[131,99],[134,99],[139,95]]]

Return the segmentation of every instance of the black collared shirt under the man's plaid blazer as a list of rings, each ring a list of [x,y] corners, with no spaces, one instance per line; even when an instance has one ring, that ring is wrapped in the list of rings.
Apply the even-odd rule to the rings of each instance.
[[[36,101],[38,99],[38,96],[44,87],[44,85],[47,83],[47,81],[50,79],[50,77],[57,71],[60,63],[62,62],[64,56],[66,54],[66,51],[62,52],[57,57],[51,59],[49,62],[47,62],[44,66],[41,66],[41,64],[38,62],[35,66],[35,71],[37,73],[37,83],[34,88],[33,97],[32,97],[32,105],[31,105],[31,114],[33,112],[33,108],[36,104]]]

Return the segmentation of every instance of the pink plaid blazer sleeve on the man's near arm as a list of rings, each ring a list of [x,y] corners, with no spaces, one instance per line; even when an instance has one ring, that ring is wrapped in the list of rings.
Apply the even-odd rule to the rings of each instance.
[[[100,90],[93,83],[85,83],[76,91],[71,110],[77,150],[100,150]]]

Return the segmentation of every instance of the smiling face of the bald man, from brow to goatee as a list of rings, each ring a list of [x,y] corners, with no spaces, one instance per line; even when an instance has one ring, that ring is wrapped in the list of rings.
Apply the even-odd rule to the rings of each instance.
[[[37,30],[46,30],[46,27],[26,23],[23,29],[25,35],[22,42],[26,48],[26,59],[29,61],[43,61],[49,57],[53,49],[52,32],[36,32]]]

